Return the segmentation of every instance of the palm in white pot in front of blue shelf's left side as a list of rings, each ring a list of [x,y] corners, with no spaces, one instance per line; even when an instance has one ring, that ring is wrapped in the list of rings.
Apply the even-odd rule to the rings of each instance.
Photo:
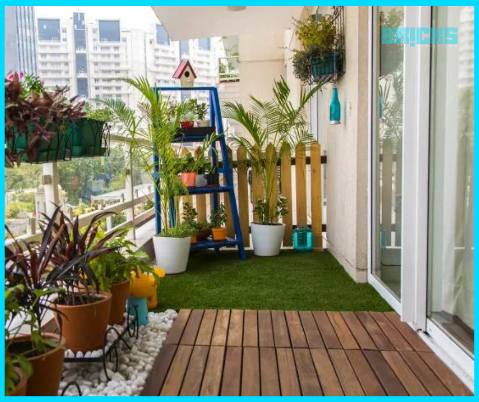
[[[155,91],[145,78],[123,79],[137,89],[142,98],[138,113],[118,99],[103,99],[115,114],[120,133],[131,139],[135,160],[149,175],[159,194],[162,228],[153,237],[156,265],[167,274],[186,270],[190,255],[192,229],[180,223],[179,195],[188,194],[187,187],[178,177],[177,151],[171,146],[180,127],[185,105],[172,105],[161,91]],[[159,162],[155,162],[155,158]],[[154,173],[161,163],[161,174]],[[156,164],[156,165],[155,165]],[[170,211],[175,211],[170,214]]]

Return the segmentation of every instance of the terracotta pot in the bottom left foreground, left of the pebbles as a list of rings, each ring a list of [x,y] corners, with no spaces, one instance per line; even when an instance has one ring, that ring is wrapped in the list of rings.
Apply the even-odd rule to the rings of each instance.
[[[60,341],[57,334],[42,334],[43,337]],[[25,344],[26,350],[31,348],[30,335],[20,335],[15,337],[14,344]],[[63,343],[63,342],[62,342]],[[15,347],[15,346],[13,346]],[[65,351],[61,347],[51,349],[38,356],[28,357],[32,365],[32,375],[26,381],[27,396],[57,396],[58,387],[63,372],[63,357]],[[25,379],[26,380],[26,379]]]

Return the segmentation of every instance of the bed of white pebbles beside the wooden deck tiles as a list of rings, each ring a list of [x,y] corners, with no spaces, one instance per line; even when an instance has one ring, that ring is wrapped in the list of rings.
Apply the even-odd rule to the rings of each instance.
[[[167,333],[176,318],[176,311],[167,310],[163,313],[148,313],[148,325],[140,326],[138,339],[126,337],[132,345],[128,349],[123,342],[117,345],[118,371],[114,372],[114,362],[107,362],[110,381],[107,382],[102,363],[65,363],[59,395],[71,381],[79,385],[82,396],[135,396],[140,395],[145,386],[146,378],[153,367],[156,355],[166,339]],[[123,327],[118,325],[121,331]],[[111,335],[112,341],[115,337]],[[101,356],[102,350],[87,351],[85,357]],[[71,350],[65,351],[65,356],[73,357]],[[83,357],[78,352],[76,357]],[[65,396],[78,396],[75,387],[69,387]]]

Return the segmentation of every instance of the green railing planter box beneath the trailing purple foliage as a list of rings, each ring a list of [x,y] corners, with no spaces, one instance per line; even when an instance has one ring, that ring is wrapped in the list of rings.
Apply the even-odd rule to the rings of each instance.
[[[33,125],[32,125],[33,130]],[[40,147],[37,148],[35,158],[32,163],[47,163],[56,161],[69,161],[71,160],[71,148],[73,140],[73,132],[75,130],[74,122],[70,121],[66,124],[64,130],[60,130],[57,127],[51,127],[49,129],[56,133],[50,139],[50,142],[42,140]],[[11,149],[16,154],[22,154],[27,148],[27,139],[25,133],[15,133],[15,140],[7,143],[7,148]],[[22,162],[29,162],[28,156],[23,155]]]

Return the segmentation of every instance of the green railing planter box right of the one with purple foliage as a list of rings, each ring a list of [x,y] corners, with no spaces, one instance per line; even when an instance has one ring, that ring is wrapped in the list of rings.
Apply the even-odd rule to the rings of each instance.
[[[89,118],[79,119],[73,133],[73,158],[107,156],[109,154],[108,124]]]

